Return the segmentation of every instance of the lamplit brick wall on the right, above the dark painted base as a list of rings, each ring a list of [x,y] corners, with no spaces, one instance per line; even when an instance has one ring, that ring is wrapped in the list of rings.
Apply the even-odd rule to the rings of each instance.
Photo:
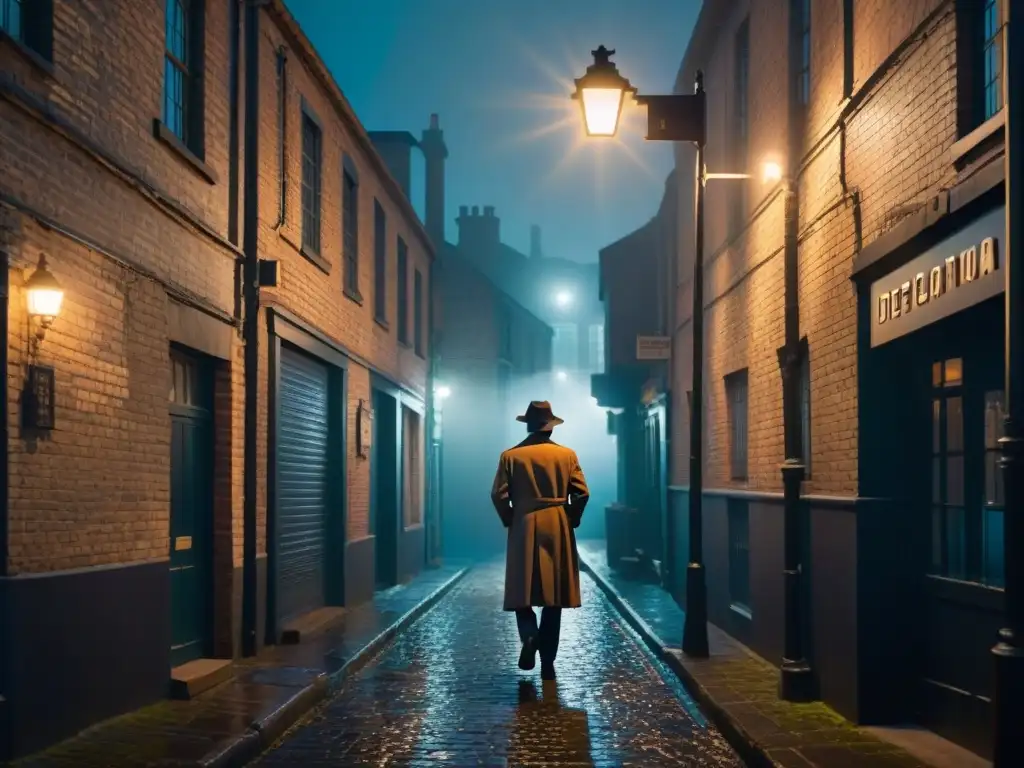
[[[811,366],[812,469],[805,492],[857,492],[856,296],[849,278],[859,247],[892,225],[907,205],[923,203],[955,178],[948,148],[956,140],[955,20],[952,3],[855,3],[853,95],[844,100],[844,29],[839,3],[814,0],[811,11],[811,96],[799,169],[801,333]],[[733,36],[750,14],[751,140],[749,169],[729,167],[733,99]],[[931,19],[930,24],[922,26]],[[778,3],[737,5],[719,31],[702,67],[709,91],[708,167],[755,175],[766,158],[787,160],[788,19]],[[882,77],[878,69],[902,53]],[[683,81],[691,79],[683,73]],[[869,90],[863,90],[865,88]],[[845,145],[844,136],[845,131]],[[677,152],[679,287],[676,309],[674,429],[685,438],[685,390],[690,381],[692,273],[692,155]],[[842,185],[845,176],[846,187]],[[783,459],[781,375],[783,341],[782,199],[758,179],[745,183],[746,226],[727,233],[726,184],[711,181],[707,196],[705,287],[706,485],[779,490]],[[856,240],[852,191],[859,194],[862,243]],[[750,372],[749,479],[728,472],[729,435],[723,377]],[[674,481],[685,483],[686,440],[675,441]]]

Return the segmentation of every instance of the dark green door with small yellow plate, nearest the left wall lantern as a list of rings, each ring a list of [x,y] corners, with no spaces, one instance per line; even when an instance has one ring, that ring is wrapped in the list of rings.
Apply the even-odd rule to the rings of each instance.
[[[171,350],[171,667],[209,654],[213,567],[210,367]]]

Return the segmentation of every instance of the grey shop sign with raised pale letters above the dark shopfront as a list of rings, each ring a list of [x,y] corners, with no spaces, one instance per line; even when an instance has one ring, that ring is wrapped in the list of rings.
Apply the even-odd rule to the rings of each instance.
[[[871,346],[996,296],[1005,288],[998,208],[871,284]]]

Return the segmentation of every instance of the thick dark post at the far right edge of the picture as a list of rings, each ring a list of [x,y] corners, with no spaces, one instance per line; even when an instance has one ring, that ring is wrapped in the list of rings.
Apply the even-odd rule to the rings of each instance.
[[[1002,457],[1004,600],[1006,617],[992,648],[995,768],[1024,765],[1024,238],[1013,222],[1024,221],[1024,0],[1010,0],[1004,28],[1002,96],[1007,110],[1006,185],[1006,424]]]

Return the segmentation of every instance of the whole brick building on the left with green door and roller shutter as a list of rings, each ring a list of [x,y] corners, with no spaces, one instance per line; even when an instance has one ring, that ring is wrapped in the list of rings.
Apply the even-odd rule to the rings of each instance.
[[[144,5],[0,2],[0,758],[426,555],[424,227],[281,2]]]

